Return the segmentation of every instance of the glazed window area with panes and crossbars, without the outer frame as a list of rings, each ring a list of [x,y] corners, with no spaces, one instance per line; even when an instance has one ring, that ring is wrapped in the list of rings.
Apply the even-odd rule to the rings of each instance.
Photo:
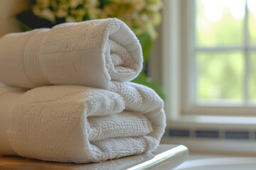
[[[193,6],[193,100],[255,103],[256,1],[196,0]]]

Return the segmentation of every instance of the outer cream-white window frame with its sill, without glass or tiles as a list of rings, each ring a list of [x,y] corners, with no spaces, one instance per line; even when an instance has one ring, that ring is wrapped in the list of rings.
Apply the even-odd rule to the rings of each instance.
[[[242,122],[239,125],[256,125],[255,106],[232,105],[223,106],[195,106],[191,101],[194,84],[192,79],[193,65],[191,63],[191,41],[193,37],[188,35],[189,30],[193,28],[191,8],[181,11],[181,6],[190,6],[191,0],[166,0],[163,8],[163,26],[162,26],[162,75],[164,91],[166,92],[165,110],[169,124],[174,122],[213,123],[238,125],[239,118]],[[184,17],[185,16],[185,17]],[[193,16],[191,16],[193,17]],[[193,30],[192,30],[193,31]],[[223,116],[225,116],[225,119]],[[231,119],[231,118],[233,119]],[[224,120],[223,120],[224,118]],[[204,120],[205,119],[205,120]]]

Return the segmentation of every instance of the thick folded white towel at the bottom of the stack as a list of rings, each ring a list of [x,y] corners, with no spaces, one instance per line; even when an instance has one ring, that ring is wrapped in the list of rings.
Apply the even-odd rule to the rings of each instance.
[[[2,88],[0,95],[0,154],[100,162],[154,149],[166,126],[163,101],[138,84],[114,83],[112,91],[42,86],[24,94]]]

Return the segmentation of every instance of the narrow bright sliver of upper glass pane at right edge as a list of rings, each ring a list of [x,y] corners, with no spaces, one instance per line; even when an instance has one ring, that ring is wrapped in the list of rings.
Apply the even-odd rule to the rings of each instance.
[[[250,44],[256,45],[256,1],[248,0]]]

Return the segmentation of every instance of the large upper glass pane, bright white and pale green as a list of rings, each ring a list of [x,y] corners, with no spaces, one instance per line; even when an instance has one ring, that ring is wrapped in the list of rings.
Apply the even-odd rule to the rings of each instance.
[[[197,0],[196,45],[242,45],[244,16],[245,0]]]

